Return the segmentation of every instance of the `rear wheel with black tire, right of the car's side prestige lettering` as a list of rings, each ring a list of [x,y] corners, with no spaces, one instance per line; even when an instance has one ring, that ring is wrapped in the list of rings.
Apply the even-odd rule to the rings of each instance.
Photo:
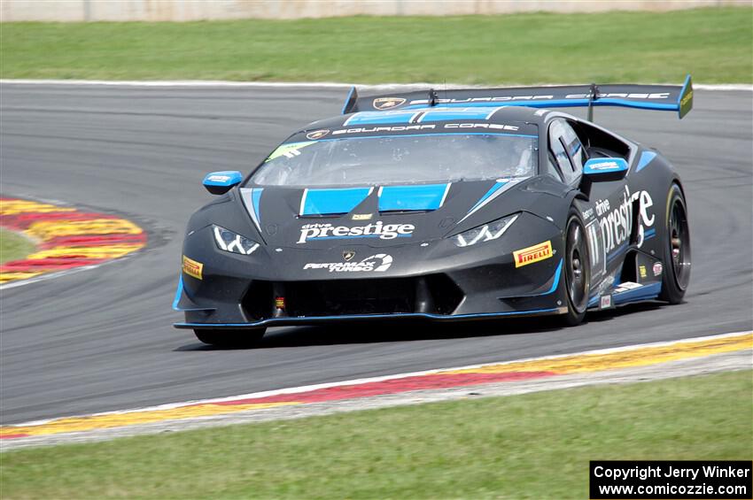
[[[675,183],[667,195],[664,273],[659,300],[679,304],[690,281],[690,231],[685,196]]]

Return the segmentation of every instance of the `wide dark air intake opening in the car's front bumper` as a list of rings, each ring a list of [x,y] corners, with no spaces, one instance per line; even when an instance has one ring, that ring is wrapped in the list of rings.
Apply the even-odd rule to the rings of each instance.
[[[273,303],[272,296],[285,297],[283,312],[276,313],[268,305]],[[462,297],[462,291],[444,274],[371,280],[254,281],[244,298],[244,307],[254,318],[410,312],[450,314]]]

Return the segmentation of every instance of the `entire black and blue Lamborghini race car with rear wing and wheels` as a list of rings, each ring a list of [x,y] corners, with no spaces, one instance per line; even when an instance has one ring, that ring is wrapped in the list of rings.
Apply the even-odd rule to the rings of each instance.
[[[682,184],[596,106],[690,111],[683,86],[477,88],[359,97],[299,130],[190,218],[174,308],[212,344],[343,320],[560,315],[679,303]],[[552,108],[588,106],[589,119]]]

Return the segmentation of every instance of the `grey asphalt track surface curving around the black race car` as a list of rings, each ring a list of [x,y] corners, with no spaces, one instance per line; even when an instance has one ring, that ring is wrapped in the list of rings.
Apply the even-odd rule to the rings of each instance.
[[[687,192],[685,304],[628,306],[580,327],[547,321],[285,327],[258,348],[198,342],[170,305],[185,223],[213,170],[247,171],[294,127],[340,112],[333,88],[0,85],[4,196],[115,212],[150,232],[111,264],[0,291],[0,421],[19,423],[431,368],[749,330],[753,94],[695,91],[695,110],[595,110],[662,150]]]

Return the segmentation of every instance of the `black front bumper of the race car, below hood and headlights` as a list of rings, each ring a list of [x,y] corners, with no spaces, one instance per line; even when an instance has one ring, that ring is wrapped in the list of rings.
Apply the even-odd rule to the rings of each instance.
[[[174,309],[185,313],[185,321],[175,327],[453,321],[567,312],[560,229],[527,213],[516,228],[500,241],[465,249],[449,240],[381,248],[345,243],[327,250],[263,249],[252,256],[206,244],[211,240],[202,235],[205,228],[184,243],[184,254],[202,263],[203,270],[200,279],[182,274]],[[547,241],[549,258],[516,267],[515,250]],[[345,250],[358,256],[389,254],[392,265],[382,273],[306,268],[307,263],[343,261]]]

